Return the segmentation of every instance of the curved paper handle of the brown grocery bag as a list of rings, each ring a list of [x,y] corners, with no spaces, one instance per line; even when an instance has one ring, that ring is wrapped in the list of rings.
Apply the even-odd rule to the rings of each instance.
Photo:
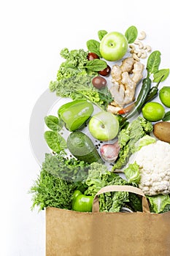
[[[131,192],[136,195],[142,195],[142,209],[144,213],[150,213],[150,207],[147,202],[147,198],[142,192],[141,189],[132,186],[119,186],[119,185],[112,185],[107,187],[102,187],[93,199],[93,212],[99,212],[99,202],[98,202],[98,195],[101,195],[106,192]]]

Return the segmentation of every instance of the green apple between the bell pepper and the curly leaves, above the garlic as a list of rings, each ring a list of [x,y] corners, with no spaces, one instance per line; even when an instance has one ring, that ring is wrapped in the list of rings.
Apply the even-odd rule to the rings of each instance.
[[[119,131],[119,122],[112,113],[101,111],[90,118],[88,129],[97,140],[112,140]]]

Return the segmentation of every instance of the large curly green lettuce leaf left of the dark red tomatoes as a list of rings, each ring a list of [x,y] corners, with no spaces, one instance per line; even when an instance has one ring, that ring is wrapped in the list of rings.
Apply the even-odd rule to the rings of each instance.
[[[112,95],[107,88],[98,90],[91,83],[98,73],[85,68],[89,62],[87,54],[81,49],[70,52],[67,48],[61,50],[61,55],[66,58],[66,61],[61,64],[56,80],[50,82],[50,91],[56,91],[59,97],[88,99],[105,110],[112,102]]]

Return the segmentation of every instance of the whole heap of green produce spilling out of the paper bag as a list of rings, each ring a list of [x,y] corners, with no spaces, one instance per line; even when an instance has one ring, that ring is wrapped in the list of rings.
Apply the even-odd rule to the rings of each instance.
[[[159,69],[161,53],[150,53],[145,37],[135,26],[125,34],[101,30],[88,50],[61,50],[65,61],[50,91],[68,102],[45,117],[51,153],[31,187],[32,208],[90,212],[102,187],[131,185],[152,212],[170,210],[170,86],[159,90],[169,69]],[[130,192],[98,197],[100,211],[142,211],[141,197]]]

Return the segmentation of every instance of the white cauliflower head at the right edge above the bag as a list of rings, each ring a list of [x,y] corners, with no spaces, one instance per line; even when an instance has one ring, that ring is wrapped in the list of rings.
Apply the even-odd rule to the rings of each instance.
[[[170,193],[170,144],[161,140],[143,146],[134,156],[139,165],[139,188],[145,195]]]

